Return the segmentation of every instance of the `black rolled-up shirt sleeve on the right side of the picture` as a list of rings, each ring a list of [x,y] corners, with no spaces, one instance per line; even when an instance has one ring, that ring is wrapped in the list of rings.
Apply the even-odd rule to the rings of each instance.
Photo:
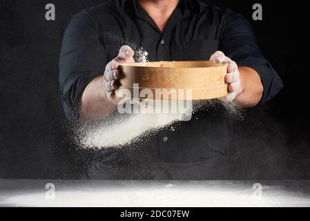
[[[224,12],[220,50],[233,59],[238,66],[253,68],[260,75],[264,86],[260,104],[267,102],[283,88],[279,75],[260,52],[249,21],[231,10]]]

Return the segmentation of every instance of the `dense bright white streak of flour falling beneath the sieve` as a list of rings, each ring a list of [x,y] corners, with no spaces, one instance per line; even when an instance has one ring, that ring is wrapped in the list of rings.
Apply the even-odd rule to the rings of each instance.
[[[84,148],[122,147],[129,143],[142,142],[159,128],[185,119],[185,113],[137,113],[120,115],[114,113],[95,127],[83,126],[79,142]]]

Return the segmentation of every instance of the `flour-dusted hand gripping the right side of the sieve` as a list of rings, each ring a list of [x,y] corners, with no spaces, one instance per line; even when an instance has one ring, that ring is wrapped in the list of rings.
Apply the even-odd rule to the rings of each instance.
[[[227,67],[225,81],[227,84],[229,84],[229,94],[225,97],[221,97],[220,99],[222,99],[222,101],[224,102],[232,102],[241,90],[238,65],[235,63],[235,61],[231,60],[229,57],[226,57],[224,53],[220,50],[211,55],[210,60],[217,64],[220,64],[222,62],[228,62],[229,65]]]

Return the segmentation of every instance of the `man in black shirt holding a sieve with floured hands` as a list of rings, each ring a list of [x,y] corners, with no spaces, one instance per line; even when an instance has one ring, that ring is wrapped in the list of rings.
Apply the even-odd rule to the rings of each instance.
[[[263,104],[282,88],[251,26],[237,13],[195,0],[108,1],[75,15],[64,35],[59,80],[68,118],[97,120],[115,111],[118,64],[134,61],[130,46],[143,47],[150,61],[229,62],[229,95],[222,100],[245,108]],[[198,111],[175,131],[159,131],[135,148],[97,151],[88,176],[206,179],[212,159],[231,145],[232,123],[223,106]]]

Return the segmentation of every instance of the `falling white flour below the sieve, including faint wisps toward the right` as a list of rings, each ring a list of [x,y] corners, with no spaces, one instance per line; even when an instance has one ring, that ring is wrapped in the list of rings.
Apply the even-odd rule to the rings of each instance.
[[[210,108],[224,104],[220,100],[196,101],[193,108],[186,108],[184,113],[148,113],[148,114],[119,114],[114,113],[96,125],[84,124],[77,130],[77,140],[82,148],[122,148],[126,144],[144,142],[159,129],[169,128],[175,131],[177,124],[197,111],[208,111]],[[218,111],[223,112],[223,108]],[[224,104],[224,115],[240,120],[243,111],[233,104]],[[199,120],[197,117],[195,120]],[[173,124],[173,125],[172,125]]]

